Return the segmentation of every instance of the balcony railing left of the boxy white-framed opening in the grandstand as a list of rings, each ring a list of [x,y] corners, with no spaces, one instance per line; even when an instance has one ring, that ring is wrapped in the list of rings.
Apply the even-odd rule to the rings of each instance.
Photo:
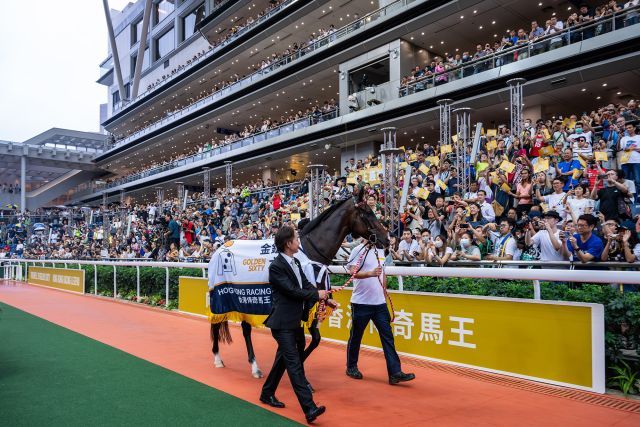
[[[132,181],[137,181],[139,179],[156,175],[162,172],[166,172],[168,170],[175,169],[177,167],[186,166],[191,163],[199,162],[200,160],[209,159],[214,156],[219,156],[220,154],[227,153],[229,151],[236,150],[238,148],[248,147],[255,143],[266,141],[267,139],[275,138],[277,136],[284,135],[286,133],[290,133],[298,129],[303,129],[309,126],[316,125],[318,123],[323,123],[325,121],[337,118],[339,115],[338,113],[339,111],[338,111],[338,108],[336,107],[330,112],[322,114],[320,116],[310,115],[302,119],[298,119],[293,122],[283,124],[276,128],[269,129],[267,131],[259,132],[251,136],[240,138],[236,141],[233,141],[229,144],[226,144],[220,147],[211,148],[207,151],[195,153],[190,156],[184,157],[179,160],[174,160],[173,162],[166,163],[161,166],[150,168],[142,172],[135,173],[133,175],[128,175],[126,177],[123,177],[108,183],[106,185],[106,188],[117,187],[119,185],[126,184]]]

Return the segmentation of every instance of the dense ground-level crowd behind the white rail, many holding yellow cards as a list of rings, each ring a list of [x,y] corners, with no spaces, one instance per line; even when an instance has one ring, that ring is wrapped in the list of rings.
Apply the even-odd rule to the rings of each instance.
[[[638,262],[638,117],[636,102],[629,101],[581,116],[527,118],[520,135],[506,126],[487,129],[475,161],[469,152],[462,164],[468,183],[459,179],[455,144],[407,148],[398,189],[408,180],[408,191],[396,200],[397,206],[406,202],[389,262]],[[375,156],[351,159],[343,176],[328,177],[323,208],[364,191],[382,218],[385,189],[368,173],[379,162]],[[225,239],[268,238],[306,216],[306,178],[273,184],[250,182],[208,200],[195,194],[186,209],[178,200],[127,206],[112,215],[108,230],[100,212],[91,225],[61,218],[51,235],[30,233],[28,218],[14,218],[4,221],[0,257],[206,259]],[[344,251],[356,243],[348,239]]]

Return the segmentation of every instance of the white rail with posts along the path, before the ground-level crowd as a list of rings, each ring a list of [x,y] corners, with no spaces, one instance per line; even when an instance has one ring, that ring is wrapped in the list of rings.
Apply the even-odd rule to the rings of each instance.
[[[81,261],[81,260],[0,260],[4,271],[5,279],[24,280],[27,276],[28,265],[40,264],[75,264],[81,268],[81,265],[103,265],[113,267],[113,298],[117,297],[117,272],[116,267],[136,267],[137,294],[140,296],[140,269],[139,267],[164,268],[166,271],[165,283],[165,301],[169,305],[169,268],[196,268],[202,270],[202,277],[207,277],[207,263],[185,263],[185,262],[140,262],[140,261]],[[24,270],[22,269],[24,265]],[[345,266],[331,265],[329,272],[332,274],[346,274]],[[576,282],[576,283],[597,283],[608,285],[615,283],[622,284],[638,284],[640,283],[640,273],[631,271],[616,271],[615,278],[611,276],[609,271],[594,270],[554,270],[554,269],[501,269],[499,272],[490,268],[456,268],[456,267],[401,267],[387,266],[384,267],[385,275],[398,277],[398,290],[404,291],[402,286],[402,277],[443,277],[443,278],[475,278],[475,279],[494,279],[494,280],[520,280],[532,281],[534,287],[534,299],[540,300],[540,282]],[[94,268],[94,293],[98,292],[98,273]]]

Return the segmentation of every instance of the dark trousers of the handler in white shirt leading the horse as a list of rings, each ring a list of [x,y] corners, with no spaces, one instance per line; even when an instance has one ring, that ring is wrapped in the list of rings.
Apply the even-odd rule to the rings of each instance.
[[[347,343],[347,368],[358,366],[358,354],[360,353],[360,343],[362,335],[369,321],[372,321],[380,333],[384,358],[387,361],[387,373],[395,375],[402,371],[400,358],[393,343],[393,332],[391,332],[391,317],[386,304],[367,305],[351,304],[351,333]]]

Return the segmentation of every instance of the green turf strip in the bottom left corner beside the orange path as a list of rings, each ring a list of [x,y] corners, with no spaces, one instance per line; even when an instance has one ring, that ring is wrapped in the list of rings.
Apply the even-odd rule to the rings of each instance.
[[[0,425],[298,425],[14,307],[0,309]]]

